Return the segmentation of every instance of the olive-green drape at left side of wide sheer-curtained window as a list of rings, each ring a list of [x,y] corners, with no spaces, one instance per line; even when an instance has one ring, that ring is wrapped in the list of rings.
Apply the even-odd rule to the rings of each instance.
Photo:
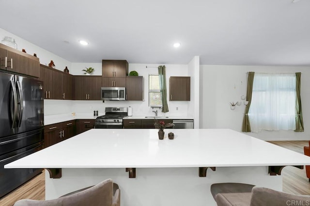
[[[244,111],[243,123],[242,123],[242,132],[251,132],[250,120],[248,118],[248,110],[251,105],[252,100],[252,90],[253,90],[253,81],[254,81],[254,72],[248,73],[248,88],[247,88],[247,99],[248,105]]]

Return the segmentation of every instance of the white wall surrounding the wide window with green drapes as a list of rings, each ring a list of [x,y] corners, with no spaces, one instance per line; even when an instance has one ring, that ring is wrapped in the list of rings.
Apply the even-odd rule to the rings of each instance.
[[[263,140],[310,139],[310,67],[287,66],[200,66],[201,128],[230,128],[241,131],[245,105],[230,109],[230,102],[241,101],[246,95],[247,72],[295,73],[301,72],[301,103],[305,132],[262,131],[247,132]]]

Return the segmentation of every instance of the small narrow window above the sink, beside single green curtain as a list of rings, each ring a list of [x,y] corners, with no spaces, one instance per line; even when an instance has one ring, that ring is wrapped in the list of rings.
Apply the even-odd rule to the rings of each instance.
[[[149,74],[149,106],[163,106],[163,103],[161,101],[158,74]]]

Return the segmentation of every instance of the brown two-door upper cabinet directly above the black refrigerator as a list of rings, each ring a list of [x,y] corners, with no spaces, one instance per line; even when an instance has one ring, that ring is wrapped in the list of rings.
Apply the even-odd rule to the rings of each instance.
[[[0,44],[0,69],[40,77],[39,58]]]

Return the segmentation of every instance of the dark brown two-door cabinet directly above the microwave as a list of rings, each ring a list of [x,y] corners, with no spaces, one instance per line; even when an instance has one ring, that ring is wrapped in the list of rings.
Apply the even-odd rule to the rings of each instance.
[[[102,60],[102,77],[126,77],[127,75],[126,60]]]

